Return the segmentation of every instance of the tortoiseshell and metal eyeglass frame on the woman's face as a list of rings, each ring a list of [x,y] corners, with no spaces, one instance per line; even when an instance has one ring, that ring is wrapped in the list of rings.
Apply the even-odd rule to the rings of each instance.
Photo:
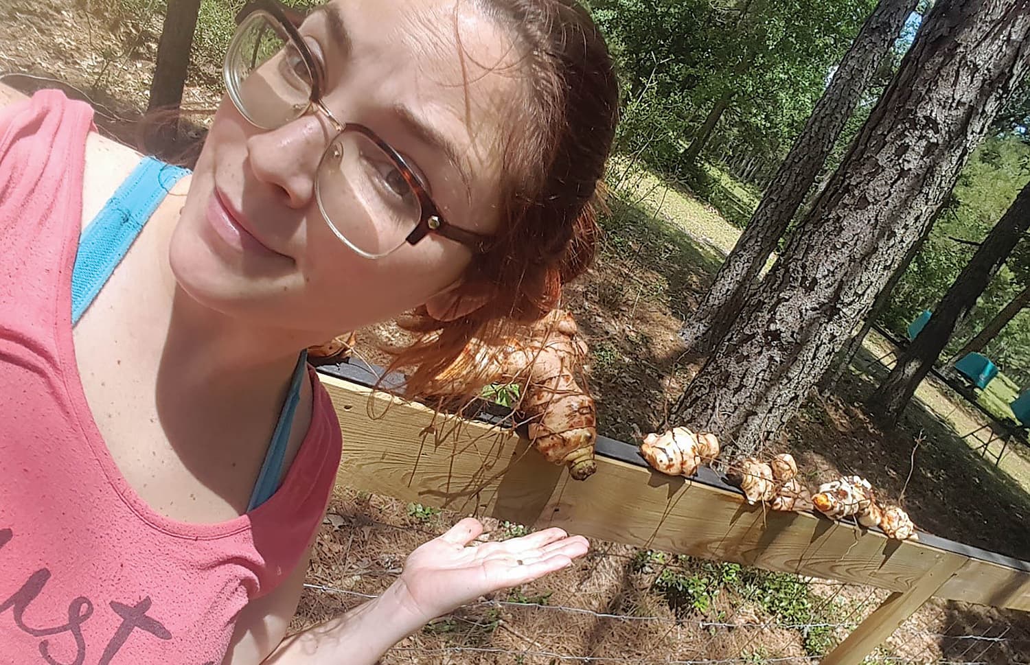
[[[321,67],[321,63],[319,63],[319,61],[311,55],[311,50],[308,48],[307,43],[304,41],[304,38],[298,30],[300,25],[304,22],[306,14],[302,11],[285,6],[281,2],[278,2],[278,0],[253,0],[236,14],[236,25],[241,25],[247,16],[251,15],[255,11],[264,11],[268,15],[272,16],[272,19],[274,19],[276,23],[282,27],[282,30],[289,38],[290,43],[297,49],[297,52],[300,54],[301,59],[304,60],[304,64],[307,65],[308,71],[311,72],[311,95],[308,99],[308,106],[299,112],[297,117],[302,117],[307,113],[310,113],[312,109],[315,109],[320,112],[330,121],[330,124],[333,125],[333,128],[337,131],[337,135],[329,142],[327,153],[330,149],[332,149],[333,143],[340,134],[343,134],[344,132],[358,132],[378,145],[387,155],[390,156],[390,159],[393,160],[398,167],[398,171],[401,172],[402,177],[404,177],[405,181],[407,181],[407,183],[411,186],[412,191],[414,191],[415,196],[418,198],[419,207],[421,209],[420,219],[415,229],[408,234],[401,245],[380,254],[371,254],[354,247],[349,241],[347,241],[347,244],[351,247],[351,249],[354,249],[358,253],[370,258],[380,258],[392,253],[398,248],[403,247],[405,243],[414,245],[427,235],[436,234],[442,238],[447,238],[448,240],[453,240],[456,243],[465,245],[475,254],[483,254],[489,251],[493,238],[491,236],[484,236],[482,234],[477,234],[475,232],[455,226],[444,219],[443,215],[440,214],[440,209],[437,207],[437,204],[430,196],[422,179],[411,169],[411,167],[408,166],[405,159],[397,150],[394,150],[389,143],[381,139],[378,134],[364,125],[359,125],[357,122],[341,122],[335,115],[333,115],[333,112],[329,110],[322,102],[322,92],[325,87],[325,73]],[[228,81],[227,84],[229,84]],[[236,101],[235,96],[231,95],[230,97],[234,98],[234,103],[239,103]],[[240,110],[243,111],[244,109]],[[244,112],[244,115],[246,116],[247,113]],[[247,119],[250,122],[253,122],[253,120],[249,117],[247,117]],[[324,155],[322,160],[324,160]],[[319,168],[321,168],[321,163],[319,163]],[[319,208],[321,208],[320,204]],[[336,230],[336,224],[327,216],[324,210],[321,211],[321,214],[337,235],[340,235],[340,232]]]

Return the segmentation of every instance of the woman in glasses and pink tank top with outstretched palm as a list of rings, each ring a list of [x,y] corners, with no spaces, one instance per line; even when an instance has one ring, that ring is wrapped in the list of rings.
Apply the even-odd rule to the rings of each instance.
[[[341,446],[301,350],[413,311],[417,392],[541,317],[592,254],[617,90],[565,0],[240,20],[192,173],[0,89],[0,658],[373,663],[586,552],[466,519],[283,639]]]

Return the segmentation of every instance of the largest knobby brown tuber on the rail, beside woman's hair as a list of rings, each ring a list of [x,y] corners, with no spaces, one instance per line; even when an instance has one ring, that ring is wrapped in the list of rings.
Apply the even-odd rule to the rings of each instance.
[[[479,384],[520,388],[515,412],[528,423],[529,441],[544,457],[566,464],[576,480],[597,470],[597,415],[587,389],[587,346],[572,315],[554,310],[535,323],[525,341],[500,345],[473,340],[462,356],[437,376],[437,395],[466,395],[467,377]]]

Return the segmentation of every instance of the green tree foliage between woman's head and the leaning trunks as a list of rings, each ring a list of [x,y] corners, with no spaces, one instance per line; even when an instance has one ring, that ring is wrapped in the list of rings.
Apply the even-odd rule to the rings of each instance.
[[[682,173],[681,154],[732,95],[711,152],[775,166],[811,113],[871,0],[595,0],[625,91],[619,149]]]

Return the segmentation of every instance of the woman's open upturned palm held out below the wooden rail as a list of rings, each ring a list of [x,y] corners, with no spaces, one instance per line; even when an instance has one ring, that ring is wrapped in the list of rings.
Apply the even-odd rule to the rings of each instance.
[[[408,557],[399,591],[423,623],[492,591],[560,570],[590,547],[583,536],[558,528],[470,547],[482,532],[479,520],[466,518]]]

